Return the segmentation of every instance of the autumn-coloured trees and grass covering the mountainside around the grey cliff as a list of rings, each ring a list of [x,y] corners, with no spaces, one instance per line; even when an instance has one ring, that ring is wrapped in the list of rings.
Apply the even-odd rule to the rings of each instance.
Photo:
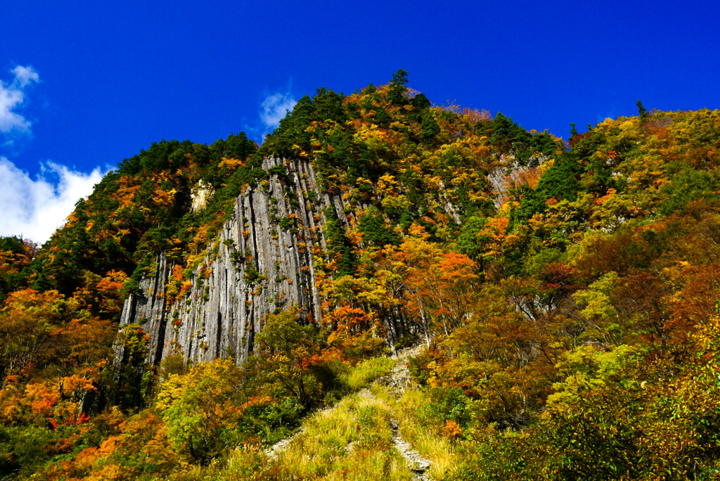
[[[163,140],[39,250],[0,239],[0,477],[412,479],[392,418],[435,480],[716,479],[720,111],[638,102],[566,143],[406,84],[318,89],[260,146]],[[271,156],[348,206],[317,215],[320,318],[276,309],[244,363],[149,363],[123,301],[160,253],[184,300],[238,195],[290,181]],[[353,395],[414,343],[415,387]]]

